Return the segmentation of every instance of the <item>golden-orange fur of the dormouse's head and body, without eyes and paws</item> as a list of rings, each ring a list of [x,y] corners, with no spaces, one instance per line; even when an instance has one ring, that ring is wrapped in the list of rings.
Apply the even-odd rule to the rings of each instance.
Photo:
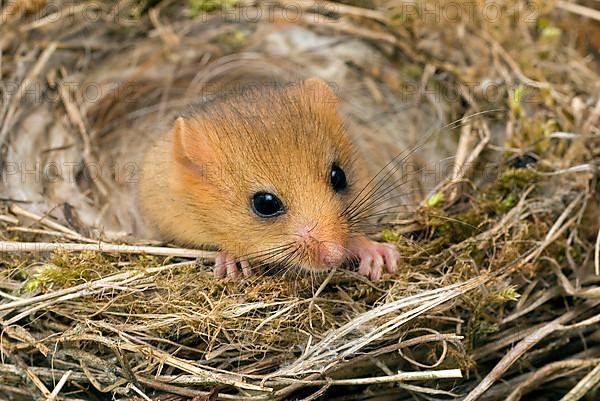
[[[340,193],[330,184],[334,162],[348,178]],[[246,92],[179,118],[146,153],[139,203],[167,239],[214,244],[243,258],[298,241],[301,227],[346,248],[352,233],[341,213],[366,184],[333,94],[308,80]],[[276,194],[286,213],[256,216],[250,199],[260,190]],[[314,259],[300,250],[291,262],[320,269]]]

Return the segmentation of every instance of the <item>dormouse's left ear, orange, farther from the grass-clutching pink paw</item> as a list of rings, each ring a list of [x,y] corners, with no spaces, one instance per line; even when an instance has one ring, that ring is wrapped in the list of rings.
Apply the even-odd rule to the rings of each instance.
[[[197,121],[178,117],[173,127],[173,156],[182,166],[204,174],[211,163],[212,151],[206,137],[207,130]]]

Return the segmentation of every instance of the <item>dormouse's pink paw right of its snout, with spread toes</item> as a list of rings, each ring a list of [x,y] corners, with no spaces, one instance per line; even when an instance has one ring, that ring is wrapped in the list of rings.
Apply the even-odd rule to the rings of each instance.
[[[394,245],[375,242],[365,236],[351,239],[349,250],[360,260],[358,272],[373,281],[381,278],[384,265],[388,272],[394,273],[400,260]]]

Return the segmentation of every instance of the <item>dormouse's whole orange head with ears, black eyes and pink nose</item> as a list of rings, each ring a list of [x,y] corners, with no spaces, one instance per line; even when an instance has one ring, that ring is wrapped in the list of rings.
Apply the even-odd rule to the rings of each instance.
[[[349,256],[366,171],[323,81],[254,88],[173,129],[176,190],[210,242],[256,264],[311,271]]]

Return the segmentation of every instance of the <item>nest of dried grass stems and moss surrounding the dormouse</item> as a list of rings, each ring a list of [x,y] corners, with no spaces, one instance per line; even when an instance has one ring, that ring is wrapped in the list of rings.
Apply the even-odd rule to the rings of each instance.
[[[538,5],[528,20],[532,9],[506,2],[497,21],[479,13],[429,21],[402,3],[299,2],[297,22],[249,23],[191,1],[185,10],[94,3],[91,20],[84,5],[14,4],[2,8],[0,27],[0,75],[23,89],[0,88],[5,397],[595,399],[600,79],[569,15]],[[459,121],[444,131],[459,133],[461,168],[417,191],[408,218],[379,233],[401,250],[400,273],[377,283],[351,271],[217,280],[204,265],[210,252],[121,235],[139,234],[130,183],[114,171],[90,178],[77,166],[131,160],[128,146],[207,82],[266,74],[265,65],[269,74],[318,74],[342,57],[327,49],[329,59],[282,62],[270,53],[278,36],[266,40],[265,32],[299,26],[304,35],[335,31],[346,50],[375,55],[376,63],[344,59],[350,67],[335,70],[342,99],[360,111],[358,127],[371,127],[371,159],[384,158],[382,143],[415,143],[373,128],[381,121],[417,137],[421,124],[435,126],[432,114]],[[411,78],[420,90],[399,100]],[[69,82],[118,83],[120,95],[86,102],[85,87]],[[490,83],[499,96],[485,96]],[[133,103],[123,101],[129,84],[141,94]],[[43,96],[32,100],[26,89]],[[502,113],[477,115],[490,109]],[[440,146],[422,157],[448,155]],[[14,170],[57,160],[76,163],[76,179],[23,179]]]

